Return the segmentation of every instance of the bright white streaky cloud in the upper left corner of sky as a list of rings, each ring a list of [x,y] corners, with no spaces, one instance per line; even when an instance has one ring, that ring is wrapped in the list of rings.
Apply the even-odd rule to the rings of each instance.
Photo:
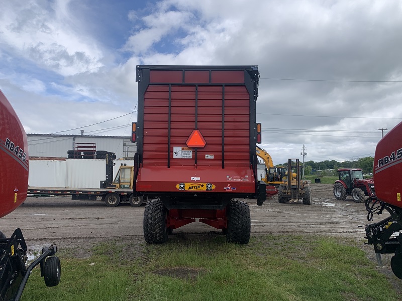
[[[69,1],[43,5],[7,2],[0,12],[0,43],[42,68],[69,76],[94,72],[102,52],[80,34],[79,20],[68,12]]]

